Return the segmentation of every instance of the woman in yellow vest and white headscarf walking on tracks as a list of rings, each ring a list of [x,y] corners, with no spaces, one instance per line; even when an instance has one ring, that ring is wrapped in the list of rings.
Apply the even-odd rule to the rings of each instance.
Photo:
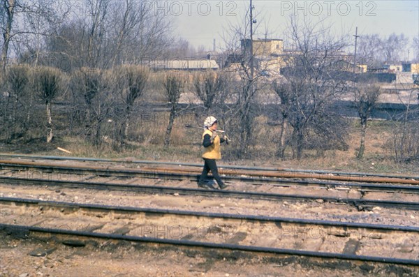
[[[218,168],[216,167],[216,160],[221,159],[221,147],[220,144],[223,142],[228,143],[228,137],[226,135],[222,135],[220,137],[216,133],[216,128],[218,127],[218,121],[215,117],[207,117],[204,121],[205,131],[203,133],[203,159],[204,159],[204,168],[203,172],[200,176],[198,187],[200,188],[209,188],[207,184],[207,175],[208,172],[212,172],[212,176],[216,180],[216,183],[219,187],[223,190],[228,186],[223,183],[221,180]]]

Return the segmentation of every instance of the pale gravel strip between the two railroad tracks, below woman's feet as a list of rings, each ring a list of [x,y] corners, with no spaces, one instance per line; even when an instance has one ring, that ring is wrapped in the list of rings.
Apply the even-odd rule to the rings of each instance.
[[[205,197],[201,195],[141,194],[128,191],[14,186],[1,184],[0,197],[105,204],[150,209],[179,209],[255,216],[278,216],[419,227],[419,211],[372,207],[359,210],[343,203],[289,202]]]

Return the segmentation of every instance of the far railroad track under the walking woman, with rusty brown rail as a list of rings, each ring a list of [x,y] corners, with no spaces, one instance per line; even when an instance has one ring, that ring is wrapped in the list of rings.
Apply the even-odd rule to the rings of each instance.
[[[202,190],[196,188],[182,188],[177,186],[157,186],[156,184],[142,184],[144,178],[156,179],[159,181],[163,179],[178,180],[182,181],[187,179],[189,181],[196,181],[199,174],[193,172],[179,172],[176,170],[156,170],[149,168],[132,169],[123,167],[98,167],[89,165],[57,165],[51,163],[36,163],[36,162],[16,162],[8,160],[0,160],[0,170],[3,173],[0,176],[0,180],[3,183],[8,184],[20,184],[20,185],[31,185],[31,186],[65,186],[71,188],[94,188],[94,189],[108,189],[108,190],[126,190],[136,191],[139,193],[166,193],[179,195],[204,195],[204,196],[216,196],[216,197],[237,197],[247,198],[256,200],[294,200],[294,201],[314,201],[322,200],[325,202],[339,202],[352,204],[358,209],[365,209],[365,207],[395,207],[403,209],[419,209],[418,204],[418,193],[419,186],[413,185],[383,185],[383,184],[359,184],[359,183],[329,183],[329,182],[316,182],[311,180],[298,181],[298,180],[283,180],[279,178],[266,178],[263,175],[260,177],[247,177],[230,175],[223,177],[228,181],[244,181],[246,184],[258,185],[270,184],[273,187],[264,189],[263,191],[254,191],[254,188],[237,189],[233,190]],[[8,171],[9,170],[9,171]],[[27,172],[31,172],[31,176]],[[18,172],[15,174],[15,172]],[[23,174],[22,174],[23,172]],[[237,172],[236,172],[237,173]],[[6,176],[6,175],[10,176]],[[71,174],[72,177],[76,176],[76,179],[82,179],[83,181],[62,181],[61,179],[54,179],[54,174]],[[86,175],[87,176],[84,176]],[[81,177],[84,176],[84,177]],[[92,181],[96,177],[112,177],[112,178],[130,178],[128,183],[124,184],[122,181],[111,183],[109,179],[102,179],[102,181]],[[40,177],[40,178],[37,178]],[[142,178],[140,180],[135,178]],[[132,179],[132,180],[131,180]],[[135,184],[132,184],[135,183]],[[273,185],[272,185],[273,184]],[[360,189],[360,195],[344,195],[337,193],[321,192],[321,193],[309,193],[308,195],[284,193],[284,188],[288,190],[289,186],[319,186],[321,184],[323,188],[340,188],[347,191],[351,188]],[[277,192],[269,192],[268,190],[276,189]],[[282,189],[282,190],[281,190]],[[404,193],[402,200],[390,199],[371,199],[365,194],[366,191],[383,190],[385,192],[392,193]],[[381,196],[383,197],[383,196]],[[405,199],[407,198],[407,199]],[[410,201],[406,201],[410,200]]]

